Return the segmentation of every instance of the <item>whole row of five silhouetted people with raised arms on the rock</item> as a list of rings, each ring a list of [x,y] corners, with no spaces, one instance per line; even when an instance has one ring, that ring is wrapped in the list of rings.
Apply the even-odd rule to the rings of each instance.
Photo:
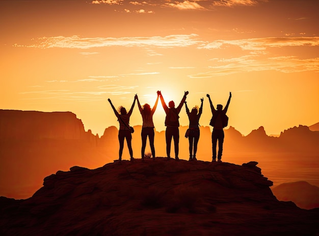
[[[195,106],[190,111],[186,98],[189,94],[188,91],[184,92],[184,96],[182,97],[179,105],[175,107],[174,101],[170,101],[168,103],[168,106],[166,105],[162,92],[157,91],[157,98],[155,101],[155,104],[153,108],[149,104],[144,104],[141,106],[138,95],[135,95],[134,101],[131,105],[131,108],[127,112],[126,109],[123,106],[120,106],[118,109],[116,109],[111,101],[111,99],[108,99],[108,101],[111,104],[111,107],[113,108],[113,111],[118,119],[119,122],[119,133],[118,133],[118,139],[119,139],[119,162],[122,160],[122,153],[124,148],[124,140],[126,139],[130,160],[134,161],[133,157],[133,151],[132,151],[132,145],[131,145],[131,139],[132,139],[132,132],[134,132],[134,129],[129,126],[129,118],[132,114],[132,111],[134,109],[135,103],[137,101],[138,107],[142,116],[143,125],[142,125],[142,148],[141,148],[141,157],[142,161],[145,160],[145,148],[146,148],[146,141],[147,137],[149,138],[149,144],[151,148],[151,154],[152,159],[155,160],[155,147],[154,147],[154,123],[153,123],[153,114],[157,108],[158,99],[161,100],[163,109],[166,113],[165,116],[165,138],[166,138],[166,154],[167,154],[167,160],[171,159],[171,143],[172,138],[174,141],[174,152],[175,152],[175,160],[178,161],[178,153],[179,153],[179,113],[181,111],[181,108],[185,104],[186,113],[189,118],[189,128],[187,132],[185,133],[185,137],[189,139],[189,152],[190,152],[190,161],[197,160],[196,158],[196,152],[197,152],[197,145],[198,140],[200,137],[200,129],[199,129],[199,120],[201,117],[201,114],[203,112],[203,102],[204,98],[201,98],[201,105],[198,108],[198,106]],[[211,161],[222,161],[222,154],[223,154],[223,143],[224,143],[224,128],[228,124],[228,116],[226,115],[226,112],[228,110],[228,106],[231,99],[231,92],[229,92],[229,98],[227,101],[227,104],[225,108],[223,109],[223,105],[217,104],[216,108],[211,102],[209,94],[206,95],[209,101],[212,118],[209,123],[210,126],[214,127],[211,133],[211,143],[212,143],[212,160]],[[218,152],[217,152],[217,141],[218,141]]]

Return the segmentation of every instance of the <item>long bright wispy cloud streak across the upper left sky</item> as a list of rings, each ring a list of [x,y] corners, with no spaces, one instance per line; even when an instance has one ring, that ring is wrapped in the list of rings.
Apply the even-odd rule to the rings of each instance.
[[[169,35],[166,37],[121,37],[121,38],[81,38],[79,36],[72,37],[42,37],[32,45],[14,44],[16,47],[28,48],[66,48],[66,49],[91,49],[108,46],[154,46],[158,48],[176,48],[185,47],[203,43],[199,41],[196,34],[190,35]]]

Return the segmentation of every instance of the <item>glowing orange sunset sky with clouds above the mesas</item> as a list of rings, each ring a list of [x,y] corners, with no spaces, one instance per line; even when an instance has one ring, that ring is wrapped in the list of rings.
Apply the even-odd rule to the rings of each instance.
[[[247,135],[319,122],[319,2],[0,1],[0,109],[71,111],[103,134],[107,99],[153,106],[156,90],[211,117],[206,93]],[[183,110],[184,111],[184,108]],[[156,130],[164,130],[159,104]],[[141,125],[136,107],[131,125]],[[180,124],[188,125],[180,113]]]

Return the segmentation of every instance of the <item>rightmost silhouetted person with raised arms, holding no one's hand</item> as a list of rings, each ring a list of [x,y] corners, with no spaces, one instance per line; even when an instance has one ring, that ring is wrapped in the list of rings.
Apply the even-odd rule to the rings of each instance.
[[[214,128],[212,129],[212,133],[211,133],[212,161],[216,161],[217,140],[218,140],[218,157],[217,157],[217,159],[218,159],[218,161],[222,161],[223,143],[224,143],[224,130],[223,130],[223,128],[227,126],[227,124],[225,123],[226,119],[224,119],[224,118],[227,117],[225,115],[226,115],[226,112],[228,110],[228,106],[230,103],[231,92],[229,92],[229,98],[228,98],[228,101],[227,101],[227,104],[226,104],[224,110],[223,110],[223,105],[221,105],[221,104],[217,105],[217,110],[216,110],[214,105],[212,105],[212,102],[210,100],[210,96],[208,94],[206,96],[209,100],[210,109],[211,109],[211,113],[212,113],[212,119],[211,119],[209,125],[214,126]]]

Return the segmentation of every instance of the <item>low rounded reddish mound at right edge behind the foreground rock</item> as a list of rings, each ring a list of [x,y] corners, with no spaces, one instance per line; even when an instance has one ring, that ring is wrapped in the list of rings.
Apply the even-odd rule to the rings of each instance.
[[[272,189],[280,201],[293,201],[304,209],[319,207],[319,187],[306,181],[282,183]]]

